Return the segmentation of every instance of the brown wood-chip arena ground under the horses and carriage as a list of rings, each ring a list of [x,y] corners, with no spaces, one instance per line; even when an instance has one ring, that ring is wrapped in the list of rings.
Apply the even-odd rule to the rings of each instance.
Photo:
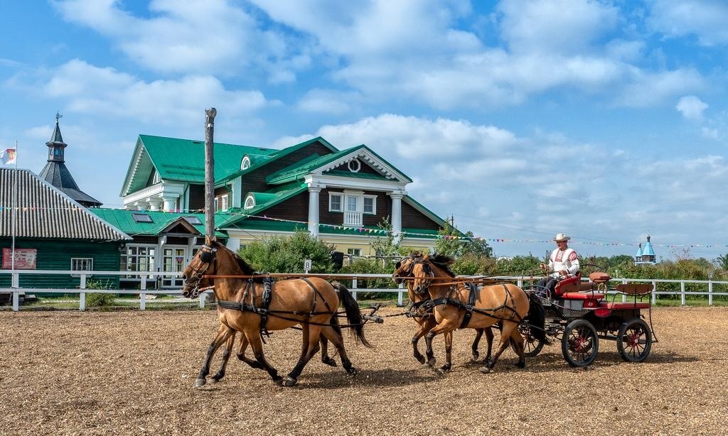
[[[375,349],[347,342],[354,379],[317,356],[284,388],[232,358],[221,383],[194,389],[214,312],[0,312],[0,434],[726,434],[727,319],[727,308],[655,309],[646,362],[602,341],[589,371],[550,346],[525,370],[509,350],[481,374],[467,364],[473,331],[458,331],[454,369],[438,376],[411,357],[414,322],[392,317],[367,326]],[[282,374],[300,337],[266,345]],[[435,350],[443,358],[441,339]]]

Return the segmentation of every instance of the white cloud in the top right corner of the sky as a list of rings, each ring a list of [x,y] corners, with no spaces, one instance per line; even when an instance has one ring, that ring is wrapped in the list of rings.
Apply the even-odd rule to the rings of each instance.
[[[667,36],[695,35],[700,44],[728,44],[728,4],[723,0],[651,0],[647,23]]]

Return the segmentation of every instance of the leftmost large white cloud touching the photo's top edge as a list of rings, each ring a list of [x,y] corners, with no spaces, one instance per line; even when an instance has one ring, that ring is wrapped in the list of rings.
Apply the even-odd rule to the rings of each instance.
[[[280,83],[293,81],[292,68],[308,65],[305,53],[291,52],[305,44],[288,44],[224,0],[153,0],[149,17],[135,17],[114,0],[53,4],[67,21],[98,31],[131,60],[162,73],[230,76],[256,65]]]

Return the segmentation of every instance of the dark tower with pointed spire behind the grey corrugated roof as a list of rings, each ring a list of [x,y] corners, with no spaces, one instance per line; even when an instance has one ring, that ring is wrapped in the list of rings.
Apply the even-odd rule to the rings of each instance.
[[[66,167],[65,155],[68,144],[63,142],[63,136],[60,134],[60,125],[58,124],[60,118],[63,118],[63,116],[57,112],[55,114],[55,129],[53,129],[50,141],[46,142],[48,147],[48,163],[43,167],[39,176],[82,206],[100,207],[100,201],[79,190],[79,185],[76,185],[74,177],[71,176],[71,171],[68,171]]]

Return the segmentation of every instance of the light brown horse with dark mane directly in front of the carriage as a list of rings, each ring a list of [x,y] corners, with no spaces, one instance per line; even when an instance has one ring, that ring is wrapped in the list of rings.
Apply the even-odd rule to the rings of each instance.
[[[437,254],[426,254],[414,262],[413,289],[415,294],[429,294],[434,304],[433,312],[437,326],[427,334],[428,339],[435,335],[445,336],[447,362],[452,355],[452,332],[456,328],[485,328],[502,323],[501,339],[493,357],[480,368],[484,373],[491,372],[500,355],[513,342],[518,353],[518,368],[526,366],[523,354],[523,337],[518,333],[518,324],[529,312],[529,297],[523,289],[510,283],[483,286],[478,292],[475,304],[468,307],[470,292],[450,270],[453,259]],[[467,312],[470,319],[464,323]],[[463,325],[465,324],[465,325]]]

